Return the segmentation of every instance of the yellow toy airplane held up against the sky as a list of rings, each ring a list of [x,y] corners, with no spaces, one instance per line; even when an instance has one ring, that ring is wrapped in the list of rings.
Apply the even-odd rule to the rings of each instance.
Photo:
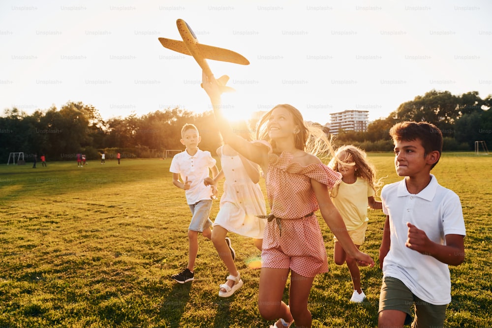
[[[159,37],[160,43],[167,49],[177,51],[184,55],[193,56],[208,78],[212,78],[213,74],[207,63],[207,59],[228,61],[241,65],[249,64],[249,61],[246,58],[234,51],[198,43],[195,33],[193,33],[193,30],[191,30],[184,20],[178,19],[176,25],[178,26],[183,41]],[[234,91],[234,89],[225,86],[227,81],[229,81],[227,75],[223,75],[217,79],[222,92]]]

